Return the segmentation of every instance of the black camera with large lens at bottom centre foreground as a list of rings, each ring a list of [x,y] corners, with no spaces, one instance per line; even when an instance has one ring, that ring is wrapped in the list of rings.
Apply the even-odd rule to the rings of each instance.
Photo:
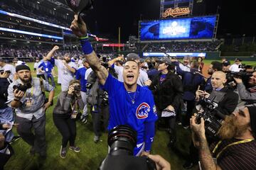
[[[100,170],[156,169],[156,164],[149,157],[133,156],[137,143],[137,132],[128,125],[118,125],[108,135],[110,153],[100,165]]]

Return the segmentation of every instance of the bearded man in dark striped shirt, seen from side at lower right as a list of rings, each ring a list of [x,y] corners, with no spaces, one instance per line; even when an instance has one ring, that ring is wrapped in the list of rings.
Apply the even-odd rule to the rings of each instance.
[[[227,116],[218,132],[220,141],[210,149],[203,118],[201,124],[196,124],[196,117],[192,116],[191,130],[194,145],[199,149],[201,169],[256,169],[255,106],[242,106]]]

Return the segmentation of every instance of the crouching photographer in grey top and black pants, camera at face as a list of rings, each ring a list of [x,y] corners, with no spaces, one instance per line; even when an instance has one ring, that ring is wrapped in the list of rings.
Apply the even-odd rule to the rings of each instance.
[[[84,108],[81,86],[79,80],[72,80],[68,91],[60,92],[57,104],[53,109],[53,122],[63,136],[60,147],[60,157],[63,159],[66,157],[68,142],[70,142],[69,149],[80,152],[80,147],[75,146],[77,108],[81,110]]]

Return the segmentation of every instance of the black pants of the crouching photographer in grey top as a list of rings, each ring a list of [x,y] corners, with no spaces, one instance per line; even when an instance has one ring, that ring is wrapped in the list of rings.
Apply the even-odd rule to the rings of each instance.
[[[76,125],[75,119],[71,119],[70,115],[61,115],[53,113],[53,122],[58,131],[63,136],[62,146],[67,147],[68,141],[70,146],[75,146]]]

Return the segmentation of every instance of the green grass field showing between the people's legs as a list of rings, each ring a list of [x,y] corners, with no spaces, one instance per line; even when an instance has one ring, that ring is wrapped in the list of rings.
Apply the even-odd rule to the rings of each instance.
[[[204,60],[206,64],[211,61]],[[245,62],[246,64],[256,65],[256,62]],[[33,70],[33,63],[28,63],[31,70]],[[56,72],[57,73],[57,72]],[[33,77],[35,74],[33,73]],[[55,78],[55,81],[57,79]],[[60,86],[57,85],[55,89],[54,103],[57,101],[57,96],[60,93]],[[91,116],[89,122],[85,125],[80,121],[77,122],[77,137],[76,145],[81,148],[81,152],[75,153],[70,150],[67,152],[67,157],[61,159],[60,145],[61,135],[53,124],[53,107],[50,107],[46,112],[46,142],[47,142],[47,159],[42,162],[38,156],[32,157],[29,154],[30,146],[18,140],[11,146],[14,148],[14,156],[11,157],[6,164],[5,169],[9,170],[36,170],[36,169],[61,169],[61,170],[75,170],[75,169],[97,169],[100,162],[107,155],[107,134],[103,133],[101,140],[95,144],[93,142],[94,133],[92,130]],[[14,130],[16,134],[16,130]],[[166,132],[157,130],[152,146],[151,154],[160,154],[171,163],[171,169],[183,169],[182,165],[186,161],[188,154],[188,147],[191,143],[191,136],[189,130],[184,130],[181,126],[177,125],[177,142],[175,152],[166,145],[169,142],[169,135]],[[196,168],[194,168],[196,169]]]

